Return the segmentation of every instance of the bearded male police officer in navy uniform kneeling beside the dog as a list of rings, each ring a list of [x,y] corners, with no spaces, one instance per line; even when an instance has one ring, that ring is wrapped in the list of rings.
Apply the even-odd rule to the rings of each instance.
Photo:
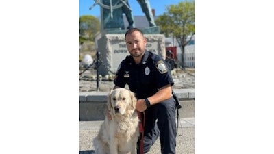
[[[171,72],[159,55],[145,49],[147,40],[140,29],[129,29],[125,42],[130,55],[117,70],[114,88],[128,84],[138,99],[136,110],[145,112],[144,153],[149,151],[158,136],[162,154],[175,153],[175,99],[172,97],[174,82]]]

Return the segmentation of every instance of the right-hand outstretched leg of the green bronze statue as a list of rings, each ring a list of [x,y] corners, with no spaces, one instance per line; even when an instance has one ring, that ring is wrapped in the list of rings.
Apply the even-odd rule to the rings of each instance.
[[[154,16],[152,14],[149,0],[137,0],[137,1],[142,8],[142,12],[145,13],[145,16],[147,17],[147,21],[149,21],[149,27],[155,27],[156,24],[154,22]]]

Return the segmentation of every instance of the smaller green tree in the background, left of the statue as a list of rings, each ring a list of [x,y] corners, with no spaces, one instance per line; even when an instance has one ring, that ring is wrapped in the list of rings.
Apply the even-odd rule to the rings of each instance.
[[[94,40],[95,34],[99,31],[100,22],[94,16],[80,16],[79,18],[79,34],[85,40]]]

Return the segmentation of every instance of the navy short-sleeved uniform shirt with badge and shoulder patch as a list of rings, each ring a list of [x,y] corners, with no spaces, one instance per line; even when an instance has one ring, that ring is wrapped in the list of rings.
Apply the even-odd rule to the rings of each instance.
[[[128,84],[129,90],[134,92],[138,99],[145,99],[167,84],[173,86],[174,82],[162,57],[146,50],[140,64],[135,64],[131,55],[121,62],[114,84],[119,87]]]

